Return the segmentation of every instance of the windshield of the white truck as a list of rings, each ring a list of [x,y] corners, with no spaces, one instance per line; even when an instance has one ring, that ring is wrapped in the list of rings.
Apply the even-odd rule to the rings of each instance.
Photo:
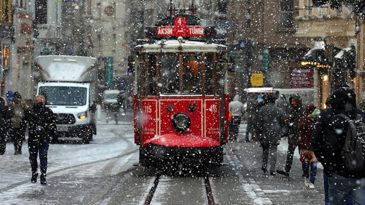
[[[86,88],[67,86],[43,86],[39,94],[45,96],[46,105],[85,105]]]

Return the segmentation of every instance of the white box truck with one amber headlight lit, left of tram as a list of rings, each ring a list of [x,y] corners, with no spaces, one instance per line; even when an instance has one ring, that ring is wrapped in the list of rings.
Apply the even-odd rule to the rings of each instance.
[[[59,138],[81,138],[87,144],[96,134],[96,58],[43,55],[35,58],[41,73],[37,95],[55,114]]]

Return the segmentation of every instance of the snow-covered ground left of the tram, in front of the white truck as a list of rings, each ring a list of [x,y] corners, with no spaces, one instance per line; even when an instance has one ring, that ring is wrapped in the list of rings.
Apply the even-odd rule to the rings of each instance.
[[[94,136],[94,140],[90,144],[50,144],[47,173],[57,172],[80,164],[113,158],[126,152],[137,150],[138,148],[133,142],[131,123],[107,125],[99,122],[97,130],[98,134]],[[23,144],[22,151],[22,155],[13,155],[14,147],[11,143],[7,143],[5,154],[0,155],[0,190],[14,183],[30,180],[31,170],[27,143]],[[100,163],[100,166],[102,164]],[[84,168],[79,169],[79,171],[80,173],[88,172]]]

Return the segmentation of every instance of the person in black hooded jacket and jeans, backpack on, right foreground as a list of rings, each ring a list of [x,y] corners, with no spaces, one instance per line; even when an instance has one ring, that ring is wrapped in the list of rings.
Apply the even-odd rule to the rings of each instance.
[[[357,120],[357,116],[360,116],[361,121],[365,122],[364,116],[358,115],[356,111],[356,93],[345,87],[335,90],[331,94],[331,109],[334,116],[326,124],[323,151],[318,156],[322,158],[322,165],[328,176],[329,204],[342,205],[346,197],[351,196],[354,204],[364,205],[365,171],[347,169],[341,154],[348,121],[339,114],[346,115],[351,120]]]

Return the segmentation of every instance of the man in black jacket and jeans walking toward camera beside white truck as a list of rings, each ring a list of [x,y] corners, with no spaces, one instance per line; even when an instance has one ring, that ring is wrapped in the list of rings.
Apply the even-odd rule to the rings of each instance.
[[[34,105],[25,115],[25,122],[29,125],[28,150],[32,170],[31,182],[37,182],[38,153],[41,164],[41,184],[46,184],[47,153],[50,137],[57,134],[55,119],[51,109],[45,107],[45,98],[37,96]]]

